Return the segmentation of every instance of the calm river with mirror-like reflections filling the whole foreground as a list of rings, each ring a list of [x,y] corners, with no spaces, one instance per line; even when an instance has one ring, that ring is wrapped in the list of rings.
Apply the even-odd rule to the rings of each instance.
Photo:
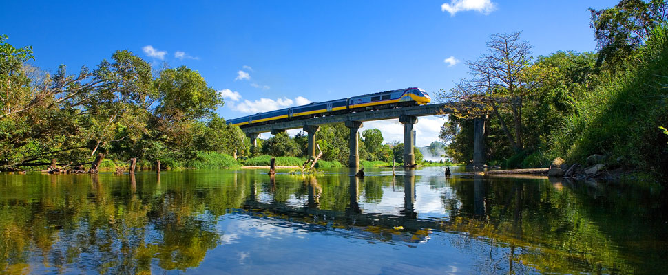
[[[660,184],[452,170],[1,174],[0,273],[668,273]]]

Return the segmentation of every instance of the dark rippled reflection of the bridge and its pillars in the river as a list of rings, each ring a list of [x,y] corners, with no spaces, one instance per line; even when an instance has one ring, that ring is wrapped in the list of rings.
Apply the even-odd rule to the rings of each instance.
[[[420,219],[415,209],[415,172],[406,170],[403,175],[404,207],[397,214],[366,213],[359,207],[360,181],[350,176],[348,192],[350,199],[345,211],[320,209],[318,192],[322,188],[315,176],[304,181],[308,188],[308,199],[304,206],[294,206],[284,202],[266,202],[258,199],[255,183],[251,186],[251,194],[241,206],[244,214],[261,219],[282,219],[306,231],[351,230],[364,239],[369,237],[382,241],[400,241],[419,243],[429,239],[431,230],[446,230],[448,219]],[[275,189],[275,177],[270,178],[272,189]],[[476,210],[482,210],[484,186],[481,177],[476,181]],[[483,194],[480,195],[479,193]],[[296,225],[296,226],[294,226]]]

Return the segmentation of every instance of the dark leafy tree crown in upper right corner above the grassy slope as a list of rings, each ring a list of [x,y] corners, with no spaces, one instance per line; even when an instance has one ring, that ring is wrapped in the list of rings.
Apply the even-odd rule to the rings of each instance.
[[[616,70],[634,50],[645,45],[656,26],[667,21],[668,1],[621,0],[613,8],[589,8],[589,12],[600,50],[596,68],[605,62]]]

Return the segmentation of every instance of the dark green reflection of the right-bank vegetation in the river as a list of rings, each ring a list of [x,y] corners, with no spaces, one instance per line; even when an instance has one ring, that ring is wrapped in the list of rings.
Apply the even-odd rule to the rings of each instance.
[[[649,228],[654,230],[648,230],[646,225],[645,228],[628,225],[629,219],[642,217],[640,219],[646,221],[647,217],[652,217],[650,213],[654,210],[649,209],[666,209],[665,204],[647,207],[642,199],[634,197],[647,192],[619,192],[616,187],[607,192],[598,190],[595,193],[600,197],[592,199],[588,197],[592,191],[583,188],[586,185],[549,183],[546,179],[489,178],[481,185],[475,178],[455,177],[449,182],[461,201],[461,208],[455,207],[457,204],[452,197],[443,197],[443,205],[452,207],[452,223],[446,230],[466,232],[472,239],[490,242],[490,261],[477,265],[499,263],[501,259],[491,256],[492,246],[497,246],[507,251],[502,259],[506,259],[506,266],[513,269],[523,263],[540,272],[627,273],[638,267],[645,269],[651,262],[665,268],[656,256],[643,259],[636,256],[654,250],[665,259],[665,242],[654,247],[629,243],[666,237],[665,232],[662,236],[655,232],[656,228],[666,226],[653,225]],[[481,190],[485,190],[484,194]],[[660,199],[655,197],[651,201]],[[665,220],[665,217],[655,219]],[[623,249],[619,249],[620,244]],[[452,245],[466,247],[461,243]]]

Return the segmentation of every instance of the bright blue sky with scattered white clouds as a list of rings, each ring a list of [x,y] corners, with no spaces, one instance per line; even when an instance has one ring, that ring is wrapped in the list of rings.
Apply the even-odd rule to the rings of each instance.
[[[617,1],[3,1],[0,34],[70,72],[127,49],[196,69],[224,118],[375,91],[450,89],[490,34],[523,31],[535,56],[595,50],[587,8]],[[446,62],[446,59],[450,63]],[[442,118],[420,118],[417,145]],[[402,140],[395,120],[365,123]],[[263,137],[268,137],[268,134]]]

